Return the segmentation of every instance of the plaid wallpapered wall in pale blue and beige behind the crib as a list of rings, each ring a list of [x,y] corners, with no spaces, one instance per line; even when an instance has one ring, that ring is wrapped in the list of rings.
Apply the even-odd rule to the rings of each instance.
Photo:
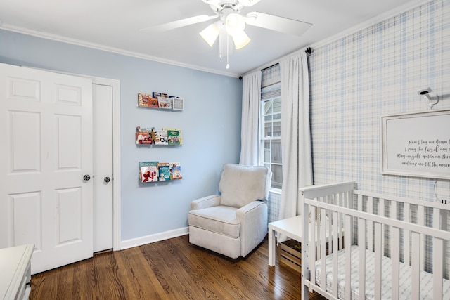
[[[446,94],[433,110],[450,108],[450,0],[314,48],[309,63],[314,184],[354,180],[361,190],[450,200],[449,180],[380,172],[382,115],[426,111],[416,91],[427,86]]]

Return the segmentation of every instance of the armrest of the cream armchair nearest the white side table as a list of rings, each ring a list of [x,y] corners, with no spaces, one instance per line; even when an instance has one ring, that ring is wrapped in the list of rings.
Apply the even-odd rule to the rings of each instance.
[[[267,234],[267,204],[253,201],[236,211],[240,222],[240,255],[245,257]]]

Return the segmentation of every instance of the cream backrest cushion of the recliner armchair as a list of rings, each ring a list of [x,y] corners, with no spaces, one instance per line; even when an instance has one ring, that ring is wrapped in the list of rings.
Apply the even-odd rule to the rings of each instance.
[[[270,179],[267,167],[225,164],[219,183],[220,204],[239,208],[264,200],[269,193]]]

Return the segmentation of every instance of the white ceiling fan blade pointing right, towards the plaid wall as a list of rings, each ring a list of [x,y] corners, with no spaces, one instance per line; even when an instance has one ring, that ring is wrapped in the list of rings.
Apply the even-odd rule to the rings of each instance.
[[[311,27],[311,24],[307,22],[257,12],[248,13],[247,18],[245,18],[245,22],[248,25],[293,34],[299,37],[304,34],[309,27]]]

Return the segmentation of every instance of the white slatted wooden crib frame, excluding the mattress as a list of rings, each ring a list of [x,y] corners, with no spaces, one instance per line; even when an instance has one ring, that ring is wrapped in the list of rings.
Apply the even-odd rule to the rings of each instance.
[[[448,268],[445,256],[450,241],[448,208],[437,202],[352,190],[353,186],[354,183],[342,183],[330,185],[330,188],[321,185],[317,190],[314,186],[300,189],[304,197],[304,216],[316,216],[317,220],[311,222],[304,217],[303,236],[317,236],[317,240],[304,241],[306,247],[302,247],[302,299],[308,299],[308,289],[328,299],[338,299],[339,271],[345,272],[345,299],[352,299],[349,279],[352,257],[347,249],[346,268],[338,270],[338,250],[352,244],[359,244],[359,282],[374,280],[375,299],[381,299],[383,256],[392,260],[392,299],[400,296],[400,263],[411,265],[411,295],[413,299],[420,299],[419,274],[426,270],[425,239],[430,240],[432,246],[432,298],[442,299],[444,266]],[[366,251],[375,254],[375,278],[366,278]],[[333,290],[330,291],[326,291],[324,271],[327,254],[332,257]],[[316,285],[316,261],[323,270],[320,278],[323,287]],[[359,285],[359,299],[365,299],[361,296],[366,294],[365,287]]]

